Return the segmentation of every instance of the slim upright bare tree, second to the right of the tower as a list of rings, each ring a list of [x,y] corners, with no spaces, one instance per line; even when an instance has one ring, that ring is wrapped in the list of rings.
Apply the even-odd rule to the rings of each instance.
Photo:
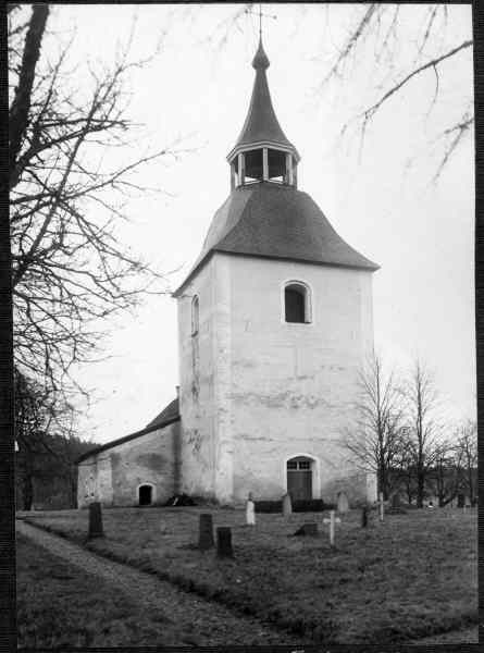
[[[404,389],[406,420],[410,427],[407,443],[409,464],[417,481],[417,506],[423,507],[425,483],[440,452],[442,427],[436,421],[438,393],[431,372],[417,360]]]

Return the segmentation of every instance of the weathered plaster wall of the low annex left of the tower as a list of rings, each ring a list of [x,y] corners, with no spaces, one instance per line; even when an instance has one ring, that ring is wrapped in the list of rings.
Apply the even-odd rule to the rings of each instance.
[[[178,492],[179,422],[89,456],[78,464],[77,505],[138,505],[138,488],[153,486],[153,503]]]

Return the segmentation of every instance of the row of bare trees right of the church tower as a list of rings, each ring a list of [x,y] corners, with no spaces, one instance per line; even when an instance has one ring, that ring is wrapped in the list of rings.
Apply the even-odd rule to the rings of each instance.
[[[373,354],[358,374],[352,423],[343,446],[362,469],[377,478],[378,494],[405,494],[423,507],[433,496],[438,506],[477,492],[477,427],[474,420],[449,426],[430,370],[415,360],[407,373],[387,369]]]

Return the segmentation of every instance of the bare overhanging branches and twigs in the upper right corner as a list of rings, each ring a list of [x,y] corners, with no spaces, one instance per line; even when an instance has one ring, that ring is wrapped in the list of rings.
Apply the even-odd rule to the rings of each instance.
[[[351,69],[364,51],[374,54],[373,99],[350,121],[343,124],[342,133],[353,124],[360,130],[361,144],[367,127],[378,111],[396,96],[402,95],[415,79],[429,79],[429,109],[426,116],[442,101],[440,87],[449,63],[472,52],[472,37],[449,37],[449,8],[443,4],[411,7],[400,3],[370,3],[355,5],[347,34],[330,59],[321,87],[328,82],[348,78]],[[415,24],[413,39],[408,37],[408,25]],[[404,34],[407,30],[407,35]],[[449,38],[445,38],[449,37]],[[457,39],[457,40],[456,40]],[[401,44],[406,44],[406,56],[400,57]],[[470,65],[472,60],[470,59]],[[452,155],[473,127],[472,88],[461,98],[460,113],[450,118],[436,140],[440,143],[440,159],[435,171],[436,181]],[[425,118],[426,118],[425,116]]]

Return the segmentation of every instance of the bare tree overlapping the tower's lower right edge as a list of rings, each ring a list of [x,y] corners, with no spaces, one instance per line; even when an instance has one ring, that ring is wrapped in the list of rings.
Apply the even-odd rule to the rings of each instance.
[[[401,448],[404,408],[396,372],[387,371],[375,353],[358,374],[352,414],[343,446],[363,469],[376,473],[377,491],[388,498],[390,469]]]

